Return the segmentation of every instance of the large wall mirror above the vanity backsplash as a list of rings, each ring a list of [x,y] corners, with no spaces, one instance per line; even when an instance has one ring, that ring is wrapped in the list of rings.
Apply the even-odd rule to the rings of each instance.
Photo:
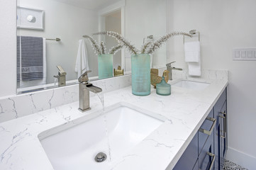
[[[113,30],[140,49],[143,42],[165,35],[166,3],[166,0],[18,0],[18,94],[77,83],[81,61],[86,63],[83,68],[91,70],[90,81],[99,79],[98,56],[83,35]],[[103,35],[93,38],[104,41],[107,50],[118,44],[114,38]],[[166,62],[167,48],[163,46],[152,56],[152,68],[165,67]],[[130,53],[123,49],[113,55],[113,69],[130,74]],[[60,84],[62,77],[64,85]]]

